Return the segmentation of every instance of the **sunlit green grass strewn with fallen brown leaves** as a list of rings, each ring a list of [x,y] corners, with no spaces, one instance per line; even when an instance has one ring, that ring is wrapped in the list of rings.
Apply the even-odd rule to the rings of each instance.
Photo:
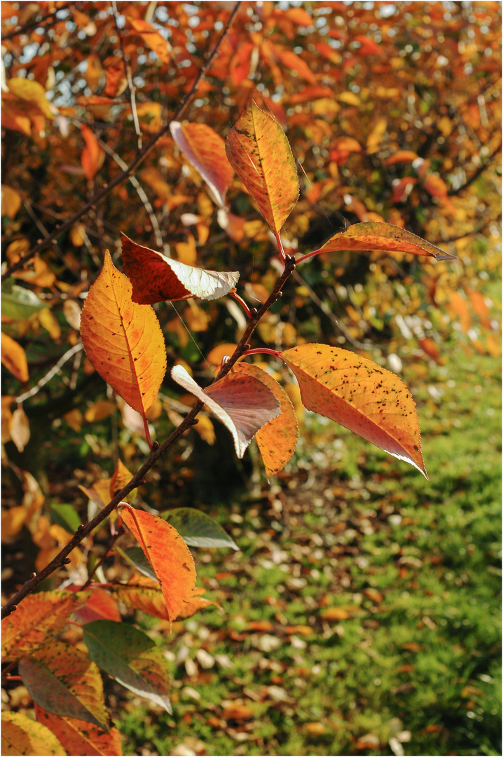
[[[501,754],[498,370],[479,355],[431,366],[433,400],[405,366],[429,481],[309,414],[295,475],[211,510],[241,547],[196,554],[222,611],[159,637],[174,715],[141,699],[117,709],[126,754],[185,742],[207,755],[392,755],[393,737],[405,755]],[[326,606],[349,617],[325,621]],[[183,646],[192,668],[175,664]],[[253,717],[225,721],[231,703]]]

